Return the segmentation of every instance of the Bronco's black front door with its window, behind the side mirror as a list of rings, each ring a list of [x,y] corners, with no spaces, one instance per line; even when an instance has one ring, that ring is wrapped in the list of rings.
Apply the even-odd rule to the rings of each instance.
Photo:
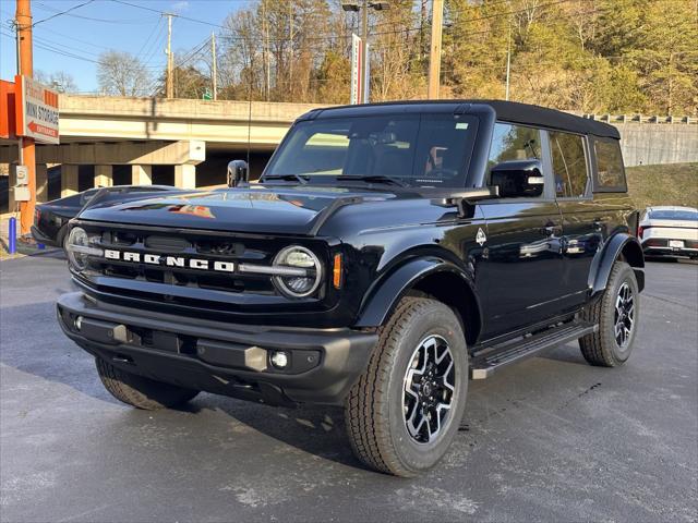
[[[555,314],[563,276],[563,228],[550,161],[543,155],[544,139],[539,129],[495,124],[489,169],[502,161],[535,158],[542,161],[546,180],[539,197],[497,198],[479,206],[488,224],[477,275],[483,296],[483,340]]]

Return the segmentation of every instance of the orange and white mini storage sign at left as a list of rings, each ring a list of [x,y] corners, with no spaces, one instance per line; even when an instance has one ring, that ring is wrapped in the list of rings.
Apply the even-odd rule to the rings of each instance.
[[[58,144],[58,93],[24,75],[15,76],[17,135]]]

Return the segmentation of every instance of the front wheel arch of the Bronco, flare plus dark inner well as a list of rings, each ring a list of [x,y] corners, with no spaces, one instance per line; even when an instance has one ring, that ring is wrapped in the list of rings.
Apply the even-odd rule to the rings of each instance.
[[[454,309],[464,325],[466,341],[474,343],[482,328],[482,312],[472,279],[460,267],[436,256],[411,259],[374,284],[361,305],[356,327],[380,327],[408,294],[429,295]]]

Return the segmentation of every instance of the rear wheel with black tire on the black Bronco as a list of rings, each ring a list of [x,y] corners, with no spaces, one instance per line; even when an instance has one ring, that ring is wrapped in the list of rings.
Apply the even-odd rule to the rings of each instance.
[[[624,316],[623,312],[616,309],[616,305],[618,300],[627,301],[619,296],[619,293],[626,290],[631,293],[631,314],[626,311]],[[629,307],[623,304],[618,306]],[[639,317],[640,301],[635,271],[625,262],[616,262],[611,270],[605,291],[583,314],[585,319],[599,326],[597,332],[579,339],[579,348],[585,360],[591,365],[601,367],[624,364],[633,352]],[[619,323],[623,325],[619,326],[619,330],[616,330]],[[629,332],[626,332],[628,325]]]

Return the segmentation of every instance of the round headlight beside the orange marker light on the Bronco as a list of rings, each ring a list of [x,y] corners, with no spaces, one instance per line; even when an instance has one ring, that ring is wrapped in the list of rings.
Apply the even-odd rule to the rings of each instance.
[[[274,268],[279,272],[288,272],[275,276],[274,283],[290,297],[311,295],[323,279],[322,265],[317,256],[300,245],[291,245],[279,252],[274,258]]]

